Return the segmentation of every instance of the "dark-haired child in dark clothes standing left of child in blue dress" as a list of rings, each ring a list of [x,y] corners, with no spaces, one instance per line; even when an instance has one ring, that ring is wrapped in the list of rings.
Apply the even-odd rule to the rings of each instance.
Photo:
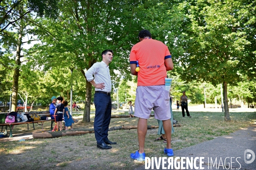
[[[63,118],[63,113],[65,111],[62,101],[63,101],[63,98],[59,96],[57,98],[58,104],[56,105],[56,109],[54,111],[54,115],[56,115],[57,128],[59,128],[59,125],[60,125],[60,130],[62,130],[62,118]]]

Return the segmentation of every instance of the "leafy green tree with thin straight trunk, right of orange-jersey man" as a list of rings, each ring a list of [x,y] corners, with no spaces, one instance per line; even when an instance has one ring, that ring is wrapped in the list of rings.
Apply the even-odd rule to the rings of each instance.
[[[226,121],[230,121],[227,84],[241,80],[244,71],[240,63],[253,62],[244,60],[248,55],[244,52],[245,45],[251,43],[248,32],[241,27],[241,13],[238,14],[244,7],[241,1],[233,0],[191,0],[181,4],[187,16],[184,26],[188,27],[184,30],[186,53],[180,57],[182,78],[211,82],[215,86],[223,84]]]

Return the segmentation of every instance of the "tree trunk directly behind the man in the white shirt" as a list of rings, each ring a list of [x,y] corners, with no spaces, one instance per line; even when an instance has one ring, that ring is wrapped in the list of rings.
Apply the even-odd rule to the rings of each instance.
[[[90,122],[90,113],[91,113],[91,83],[86,80],[86,92],[85,92],[85,109],[83,121]]]

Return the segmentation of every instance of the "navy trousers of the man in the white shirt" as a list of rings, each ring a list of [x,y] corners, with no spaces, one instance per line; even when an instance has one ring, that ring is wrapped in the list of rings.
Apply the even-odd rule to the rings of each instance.
[[[103,93],[94,94],[95,118],[94,133],[98,144],[108,140],[109,123],[111,119],[111,96]]]

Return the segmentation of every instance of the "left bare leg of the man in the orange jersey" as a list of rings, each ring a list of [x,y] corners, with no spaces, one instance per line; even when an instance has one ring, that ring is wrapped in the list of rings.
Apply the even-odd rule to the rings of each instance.
[[[138,118],[138,147],[139,153],[144,153],[144,143],[147,134],[147,119]]]

